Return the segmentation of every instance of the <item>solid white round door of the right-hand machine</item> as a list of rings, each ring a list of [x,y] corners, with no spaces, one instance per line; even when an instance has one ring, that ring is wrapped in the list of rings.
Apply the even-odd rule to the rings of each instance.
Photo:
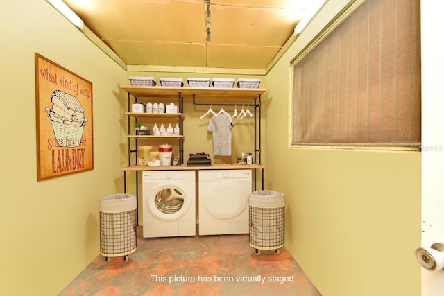
[[[234,218],[248,203],[248,193],[239,182],[216,182],[207,187],[206,193],[205,209],[216,218]]]

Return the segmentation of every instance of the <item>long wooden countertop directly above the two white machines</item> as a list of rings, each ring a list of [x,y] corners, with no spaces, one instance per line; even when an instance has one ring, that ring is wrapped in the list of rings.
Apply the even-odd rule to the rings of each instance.
[[[212,164],[212,166],[125,166],[122,171],[186,171],[186,170],[253,170],[266,168],[264,164]]]

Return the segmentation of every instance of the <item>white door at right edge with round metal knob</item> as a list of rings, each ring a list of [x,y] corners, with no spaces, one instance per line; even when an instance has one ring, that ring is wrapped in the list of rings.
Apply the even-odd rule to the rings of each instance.
[[[444,2],[421,0],[422,247],[444,243]],[[443,295],[444,270],[422,268],[422,296]]]

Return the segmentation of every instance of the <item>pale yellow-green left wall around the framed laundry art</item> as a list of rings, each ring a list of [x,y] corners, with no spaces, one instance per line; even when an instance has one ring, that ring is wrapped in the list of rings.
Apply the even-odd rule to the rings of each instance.
[[[99,198],[123,190],[126,71],[46,1],[1,1],[0,22],[0,294],[56,295],[99,254]],[[37,182],[35,52],[93,83],[93,171]]]

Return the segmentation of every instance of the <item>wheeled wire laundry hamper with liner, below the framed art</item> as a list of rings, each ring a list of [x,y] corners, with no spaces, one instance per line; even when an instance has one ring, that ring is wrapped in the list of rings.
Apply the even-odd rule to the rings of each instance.
[[[100,198],[100,254],[110,257],[128,255],[137,250],[136,239],[137,200],[129,194],[110,195]]]

